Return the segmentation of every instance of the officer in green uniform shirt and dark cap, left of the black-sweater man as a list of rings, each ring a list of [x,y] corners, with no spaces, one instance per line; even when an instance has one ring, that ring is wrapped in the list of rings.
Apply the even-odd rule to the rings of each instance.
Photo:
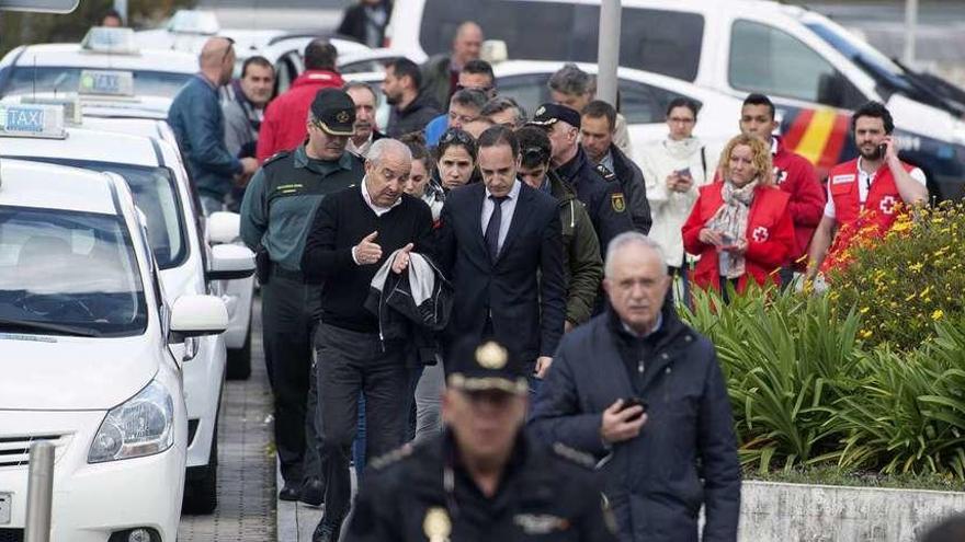
[[[241,238],[258,254],[264,357],[285,482],[279,498],[300,498],[317,506],[323,488],[315,428],[317,397],[314,385],[309,396],[309,384],[315,382],[313,335],[321,289],[306,285],[302,252],[321,198],[356,185],[365,171],[362,160],[345,150],[355,123],[355,104],[349,94],[338,89],[319,91],[307,123],[306,141],[266,160],[252,177],[241,201]]]

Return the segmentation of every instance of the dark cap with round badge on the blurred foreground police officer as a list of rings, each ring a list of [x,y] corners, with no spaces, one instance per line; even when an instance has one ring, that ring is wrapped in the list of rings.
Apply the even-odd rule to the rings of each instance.
[[[522,364],[496,341],[461,339],[453,348],[449,385],[466,392],[502,391],[525,395],[529,390]]]

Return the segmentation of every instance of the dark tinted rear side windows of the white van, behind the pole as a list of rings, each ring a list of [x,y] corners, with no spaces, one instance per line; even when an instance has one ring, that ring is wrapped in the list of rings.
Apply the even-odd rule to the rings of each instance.
[[[447,53],[456,27],[475,21],[510,58],[595,62],[600,7],[566,1],[425,0],[419,39],[428,55]],[[620,65],[693,81],[704,19],[696,13],[624,8]]]

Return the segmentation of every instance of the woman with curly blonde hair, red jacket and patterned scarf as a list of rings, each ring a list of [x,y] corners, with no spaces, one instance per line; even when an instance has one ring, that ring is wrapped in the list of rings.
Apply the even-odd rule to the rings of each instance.
[[[759,285],[780,282],[777,272],[794,250],[788,195],[774,186],[771,150],[740,135],[720,153],[723,181],[702,186],[683,224],[683,246],[700,256],[693,281],[727,296],[748,278]]]

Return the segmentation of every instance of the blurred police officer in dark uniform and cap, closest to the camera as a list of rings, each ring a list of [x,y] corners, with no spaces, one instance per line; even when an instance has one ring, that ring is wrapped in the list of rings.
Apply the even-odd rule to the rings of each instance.
[[[593,460],[523,431],[523,364],[496,342],[458,343],[442,435],[372,462],[347,541],[614,541]]]

